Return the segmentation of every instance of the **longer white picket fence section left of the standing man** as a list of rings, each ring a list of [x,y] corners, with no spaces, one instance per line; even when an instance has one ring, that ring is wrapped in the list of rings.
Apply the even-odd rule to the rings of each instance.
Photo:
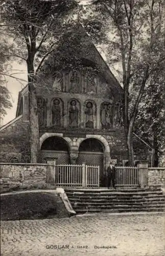
[[[100,167],[90,165],[58,164],[55,166],[56,185],[98,187]]]

